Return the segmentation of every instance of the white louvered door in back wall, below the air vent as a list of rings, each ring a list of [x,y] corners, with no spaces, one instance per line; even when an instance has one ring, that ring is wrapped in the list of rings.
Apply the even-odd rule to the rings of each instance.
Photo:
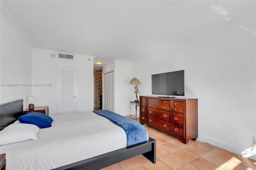
[[[76,113],[76,68],[58,67],[57,114]]]

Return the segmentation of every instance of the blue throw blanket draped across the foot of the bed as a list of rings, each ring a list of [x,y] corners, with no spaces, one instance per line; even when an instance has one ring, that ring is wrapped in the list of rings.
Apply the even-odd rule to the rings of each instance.
[[[106,117],[114,124],[122,127],[126,132],[127,146],[144,142],[147,140],[147,130],[144,126],[140,125],[139,123],[108,110],[93,112],[100,116]]]

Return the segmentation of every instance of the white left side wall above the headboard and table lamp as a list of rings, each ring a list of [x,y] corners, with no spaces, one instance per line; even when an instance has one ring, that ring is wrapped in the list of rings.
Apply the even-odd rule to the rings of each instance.
[[[0,83],[31,83],[32,49],[18,34],[17,30],[6,18],[1,8],[1,73]],[[17,99],[24,100],[23,108],[27,108],[26,97],[31,95],[31,87],[0,87],[0,103]]]

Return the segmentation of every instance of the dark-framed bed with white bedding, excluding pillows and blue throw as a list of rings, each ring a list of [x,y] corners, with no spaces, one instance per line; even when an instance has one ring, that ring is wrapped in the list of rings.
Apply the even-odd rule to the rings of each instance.
[[[23,99],[2,104],[1,130],[19,123],[22,111]],[[127,146],[124,130],[100,115],[51,117],[52,127],[40,128],[37,140],[0,146],[1,154],[6,153],[7,169],[101,169],[139,154],[156,163],[154,139]]]

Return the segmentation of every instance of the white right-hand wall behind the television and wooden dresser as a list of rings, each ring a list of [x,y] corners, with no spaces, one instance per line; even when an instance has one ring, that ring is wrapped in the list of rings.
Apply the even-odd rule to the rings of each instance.
[[[151,94],[152,74],[184,69],[185,97],[198,98],[198,140],[246,153],[256,136],[255,32],[254,16],[176,46],[148,47],[132,63],[140,95]]]

